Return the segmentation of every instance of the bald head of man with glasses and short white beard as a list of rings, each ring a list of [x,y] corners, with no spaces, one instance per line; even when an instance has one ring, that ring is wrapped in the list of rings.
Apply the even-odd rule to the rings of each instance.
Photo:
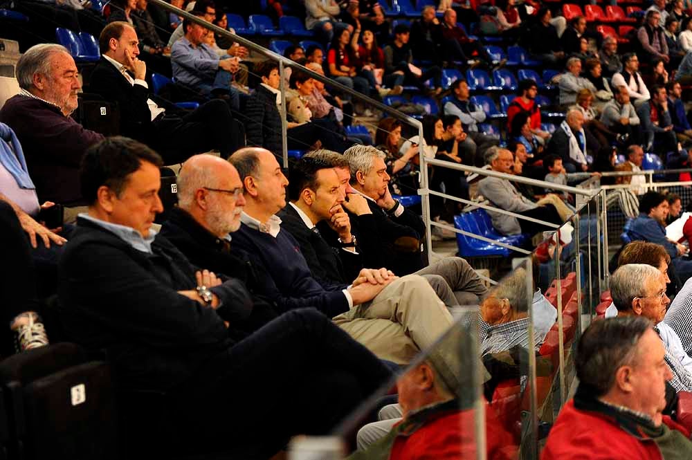
[[[233,165],[208,154],[190,157],[178,176],[178,205],[217,237],[240,227],[243,183]]]

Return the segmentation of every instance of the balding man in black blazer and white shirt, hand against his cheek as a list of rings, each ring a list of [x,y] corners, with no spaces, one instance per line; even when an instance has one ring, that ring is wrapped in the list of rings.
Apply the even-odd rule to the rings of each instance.
[[[151,99],[145,82],[147,65],[138,59],[138,37],[126,22],[108,24],[99,37],[101,59],[91,74],[90,91],[120,109],[120,131],[145,142],[165,163],[181,163],[192,154],[212,149],[228,158],[241,146],[242,129],[228,104],[211,100],[192,112]],[[160,101],[161,102],[161,101]],[[162,102],[165,104],[165,102]]]

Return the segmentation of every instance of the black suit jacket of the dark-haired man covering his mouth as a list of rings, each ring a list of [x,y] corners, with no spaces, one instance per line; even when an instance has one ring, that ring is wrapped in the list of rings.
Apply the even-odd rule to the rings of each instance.
[[[331,246],[322,238],[319,230],[313,232],[307,228],[290,204],[277,215],[281,219],[282,228],[291,233],[300,244],[300,252],[314,277],[347,284],[355,279],[354,270],[357,274],[363,266],[360,255],[341,249],[337,246],[338,241]]]

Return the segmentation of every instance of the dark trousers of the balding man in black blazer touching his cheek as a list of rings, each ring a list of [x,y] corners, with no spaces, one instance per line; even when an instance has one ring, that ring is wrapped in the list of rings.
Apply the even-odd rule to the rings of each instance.
[[[183,117],[164,116],[154,120],[154,147],[167,165],[181,163],[193,154],[217,149],[228,158],[244,145],[242,129],[233,119],[228,104],[220,99],[201,104]]]

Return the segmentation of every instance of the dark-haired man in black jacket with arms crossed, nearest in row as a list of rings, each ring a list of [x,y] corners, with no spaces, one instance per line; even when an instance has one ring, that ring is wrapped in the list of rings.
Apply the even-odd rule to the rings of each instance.
[[[389,371],[309,309],[234,343],[224,321],[253,308],[242,282],[195,272],[169,241],[154,238],[160,165],[154,151],[127,138],[104,140],[84,157],[89,214],[80,215],[60,261],[67,335],[105,351],[122,389],[167,393],[167,418],[180,434],[166,443],[176,453],[268,458],[293,434],[328,433]],[[278,390],[277,378],[285,379]],[[274,411],[277,425],[268,427]],[[235,416],[188,423],[219,412]]]

